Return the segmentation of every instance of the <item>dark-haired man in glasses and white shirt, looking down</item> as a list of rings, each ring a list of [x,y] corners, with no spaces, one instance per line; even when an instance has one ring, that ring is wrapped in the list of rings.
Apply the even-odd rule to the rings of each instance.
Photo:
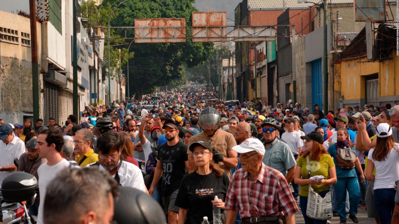
[[[122,145],[123,142],[118,132],[107,132],[102,134],[97,140],[99,161],[90,164],[90,166],[100,165],[99,170],[108,171],[122,187],[132,187],[146,192],[143,175],[140,169],[132,163],[120,160]]]

